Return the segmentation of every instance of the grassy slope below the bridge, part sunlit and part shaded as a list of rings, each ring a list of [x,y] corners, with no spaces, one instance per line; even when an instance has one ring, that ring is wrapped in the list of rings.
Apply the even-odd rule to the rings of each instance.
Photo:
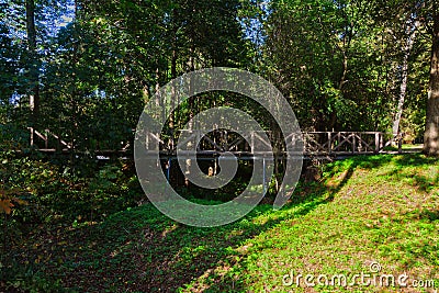
[[[78,292],[434,292],[296,288],[282,277],[381,272],[439,286],[439,162],[420,155],[357,157],[326,168],[281,211],[261,205],[219,228],[175,223],[150,205],[100,225],[53,229],[12,251],[24,288]],[[25,269],[23,269],[25,268]],[[11,278],[11,277],[9,277]],[[303,285],[303,280],[302,280]],[[1,289],[1,285],[0,285]],[[1,290],[0,290],[1,291]]]

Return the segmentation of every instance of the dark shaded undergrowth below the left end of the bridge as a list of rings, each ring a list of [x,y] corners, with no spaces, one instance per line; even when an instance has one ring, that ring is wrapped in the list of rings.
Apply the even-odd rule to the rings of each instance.
[[[16,228],[59,221],[101,221],[105,215],[136,205],[143,199],[136,178],[123,172],[123,164],[72,170],[30,157],[3,157],[2,190],[18,203],[10,221]],[[80,176],[79,172],[82,172]],[[26,229],[25,229],[26,230]]]

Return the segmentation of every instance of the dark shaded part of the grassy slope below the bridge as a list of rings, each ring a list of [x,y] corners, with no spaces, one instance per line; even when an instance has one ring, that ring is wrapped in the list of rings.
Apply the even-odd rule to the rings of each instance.
[[[26,248],[15,247],[9,257],[24,266],[33,281],[40,278],[48,286],[58,282],[67,291],[176,292],[185,286],[190,291],[188,284],[203,279],[205,283],[199,283],[194,291],[243,292],[246,278],[234,275],[230,268],[246,240],[329,203],[357,168],[372,170],[391,161],[401,168],[430,162],[419,155],[396,160],[392,156],[350,158],[325,170],[334,182],[302,183],[291,203],[278,212],[260,205],[236,223],[195,228],[145,204],[114,214],[99,225],[45,232]]]

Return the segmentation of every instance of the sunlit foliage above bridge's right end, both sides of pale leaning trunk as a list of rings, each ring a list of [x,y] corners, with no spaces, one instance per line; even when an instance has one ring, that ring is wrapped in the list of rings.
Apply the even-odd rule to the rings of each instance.
[[[409,33],[404,30],[415,5],[326,0],[270,4],[263,23],[263,72],[291,100],[302,128],[386,132],[402,82],[403,48]],[[405,12],[396,20],[399,10]],[[419,97],[426,98],[428,56],[424,54],[429,49],[421,37],[415,41],[403,116],[418,113],[415,136],[420,137],[425,106]]]

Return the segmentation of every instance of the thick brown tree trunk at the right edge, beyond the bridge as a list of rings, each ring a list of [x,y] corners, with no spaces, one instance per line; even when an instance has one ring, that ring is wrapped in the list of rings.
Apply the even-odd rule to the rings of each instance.
[[[424,153],[439,156],[439,12],[435,11],[432,27],[430,86],[427,101]]]

